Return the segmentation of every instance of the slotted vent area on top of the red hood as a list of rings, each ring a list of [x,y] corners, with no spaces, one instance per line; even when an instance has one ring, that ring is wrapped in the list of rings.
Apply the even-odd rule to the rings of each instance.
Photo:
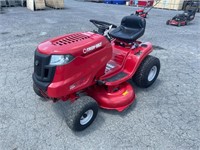
[[[53,42],[53,45],[56,45],[56,46],[68,45],[68,44],[72,44],[74,42],[83,41],[88,38],[89,38],[89,36],[87,36],[87,35],[77,33],[77,34],[68,35],[62,39],[56,40]]]

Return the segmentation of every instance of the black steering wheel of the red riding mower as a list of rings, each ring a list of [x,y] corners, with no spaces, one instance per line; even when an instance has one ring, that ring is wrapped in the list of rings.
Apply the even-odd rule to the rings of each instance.
[[[117,28],[116,25],[104,21],[91,19],[90,22],[92,22],[100,30],[107,30],[110,28],[110,26],[112,26],[112,28]]]

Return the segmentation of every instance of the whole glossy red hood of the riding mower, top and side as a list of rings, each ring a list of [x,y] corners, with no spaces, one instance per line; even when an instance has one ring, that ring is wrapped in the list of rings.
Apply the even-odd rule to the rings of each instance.
[[[112,57],[112,45],[100,34],[79,32],[47,40],[38,46],[37,52],[48,57],[68,54],[73,56],[70,63],[55,66],[53,80],[47,87],[48,97],[61,98],[95,84],[105,73],[106,64]],[[49,62],[46,67],[40,67],[39,71],[45,72],[46,68],[53,67],[48,64]],[[50,72],[46,71],[47,77],[48,73]]]

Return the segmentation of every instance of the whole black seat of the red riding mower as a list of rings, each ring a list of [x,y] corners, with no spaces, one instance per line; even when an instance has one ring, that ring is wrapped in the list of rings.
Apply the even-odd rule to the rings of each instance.
[[[145,31],[146,21],[136,15],[125,16],[121,25],[110,32],[113,38],[130,43],[140,38]]]

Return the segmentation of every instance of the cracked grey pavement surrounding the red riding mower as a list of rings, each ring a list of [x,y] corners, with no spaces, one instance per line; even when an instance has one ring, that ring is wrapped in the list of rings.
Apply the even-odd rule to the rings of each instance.
[[[199,150],[200,14],[188,26],[165,24],[180,11],[153,9],[142,41],[155,47],[160,75],[150,88],[135,85],[128,110],[100,110],[83,132],[65,122],[67,103],[44,102],[32,90],[37,45],[54,36],[93,30],[89,19],[119,25],[134,7],[65,1],[64,10],[4,9],[0,14],[1,150]]]

